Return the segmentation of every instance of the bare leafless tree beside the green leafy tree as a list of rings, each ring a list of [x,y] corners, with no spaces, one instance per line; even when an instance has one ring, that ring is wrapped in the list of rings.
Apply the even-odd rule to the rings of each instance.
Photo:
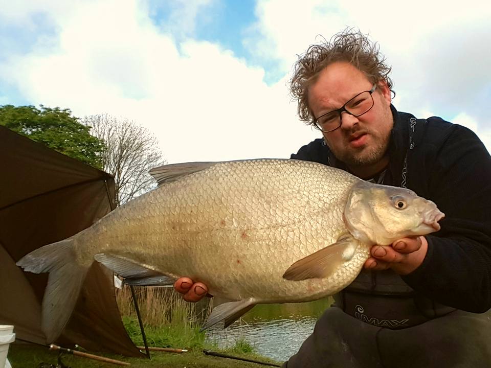
[[[108,114],[87,116],[83,122],[104,141],[102,163],[104,170],[114,175],[117,205],[155,187],[148,172],[164,162],[157,138],[148,129]]]

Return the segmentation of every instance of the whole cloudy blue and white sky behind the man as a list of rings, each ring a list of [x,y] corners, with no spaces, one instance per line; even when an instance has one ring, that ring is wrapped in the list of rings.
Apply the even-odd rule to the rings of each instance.
[[[169,164],[289,157],[298,55],[355,27],[392,66],[399,111],[491,149],[491,3],[393,0],[0,0],[0,105],[130,119]]]

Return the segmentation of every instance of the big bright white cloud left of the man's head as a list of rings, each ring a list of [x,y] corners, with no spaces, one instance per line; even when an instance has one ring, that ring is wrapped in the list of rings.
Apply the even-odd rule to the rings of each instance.
[[[318,135],[296,120],[284,80],[266,85],[262,68],[216,44],[176,43],[138,4],[105,1],[63,13],[54,52],[34,47],[13,56],[0,78],[34,104],[149,127],[169,163],[288,157]]]

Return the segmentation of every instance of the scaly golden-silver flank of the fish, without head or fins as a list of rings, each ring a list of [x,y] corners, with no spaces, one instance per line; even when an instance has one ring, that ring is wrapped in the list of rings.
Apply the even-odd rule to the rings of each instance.
[[[263,160],[237,162],[235,165],[217,164],[173,182],[169,188],[159,188],[143,196],[130,211],[150,213],[153,218],[162,218],[165,222],[163,226],[155,226],[152,217],[148,216],[147,221],[134,224],[133,227],[141,229],[140,235],[154,234],[153,242],[142,244],[145,246],[138,251],[139,259],[155,258],[153,269],[176,277],[190,275],[195,281],[209,284],[213,295],[232,299],[240,295],[255,296],[260,303],[278,302],[286,293],[291,301],[302,301],[311,294],[311,290],[337,291],[338,279],[353,279],[361,261],[353,259],[356,262],[353,269],[349,264],[346,266],[351,272],[336,273],[322,282],[293,282],[284,280],[282,274],[298,259],[336,242],[344,228],[341,214],[348,191],[358,179],[338,170],[334,172],[336,175],[328,175],[332,171],[330,168],[315,164],[298,163],[288,166],[289,170],[280,170],[279,163],[282,162]],[[220,179],[213,180],[217,177]],[[306,187],[308,191],[304,190]],[[334,193],[319,195],[325,193],[326,188],[334,188]],[[288,206],[291,197],[300,205]],[[214,200],[219,198],[227,198],[225,205]],[[262,200],[255,201],[255,198]],[[159,207],[155,208],[157,204]],[[333,205],[336,206],[335,211]],[[326,207],[329,211],[323,211]],[[169,208],[180,211],[169,211]],[[221,220],[225,221],[222,227],[227,231],[220,231]],[[110,218],[110,221],[115,227],[119,223],[117,217]],[[179,224],[181,232],[171,231],[169,222]],[[299,228],[302,228],[302,235]],[[131,239],[135,229],[125,226],[116,232],[122,234],[122,238]],[[110,233],[114,232],[106,234]],[[132,240],[139,243],[134,238]],[[101,243],[97,238],[83,241],[87,242]],[[115,238],[105,242],[107,247],[97,252],[126,254],[135,251],[135,245],[130,242],[125,247],[121,247]],[[183,247],[192,254],[185,258],[171,257],[164,250],[177,248],[178,251],[172,252],[177,255]],[[155,249],[160,251],[155,252]],[[267,249],[265,254],[264,249]],[[218,253],[220,257],[210,258],[210,254]],[[268,262],[264,265],[265,258]],[[237,260],[240,260],[240,266]],[[244,279],[264,280],[256,284],[239,283]],[[310,290],[308,295],[302,292],[304,289]]]

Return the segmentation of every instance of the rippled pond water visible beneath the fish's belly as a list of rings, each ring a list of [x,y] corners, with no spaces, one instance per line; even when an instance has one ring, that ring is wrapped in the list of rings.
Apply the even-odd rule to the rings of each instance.
[[[298,351],[331,304],[330,298],[309,303],[260,304],[226,329],[215,325],[207,335],[220,348],[245,339],[258,354],[284,361]]]

